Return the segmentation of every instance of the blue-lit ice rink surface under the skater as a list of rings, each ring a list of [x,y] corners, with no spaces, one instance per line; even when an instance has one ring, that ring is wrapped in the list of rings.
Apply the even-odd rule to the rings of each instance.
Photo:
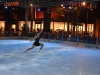
[[[34,41],[33,41],[34,42]],[[0,40],[0,75],[100,75],[100,49],[29,40]]]

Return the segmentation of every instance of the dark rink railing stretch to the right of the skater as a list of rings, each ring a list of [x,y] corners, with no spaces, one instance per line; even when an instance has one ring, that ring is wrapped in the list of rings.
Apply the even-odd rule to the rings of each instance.
[[[69,41],[69,42],[76,42],[78,45],[79,43],[84,44],[94,44],[96,46],[100,45],[100,41],[98,37],[95,36],[87,36],[87,35],[68,35],[68,34],[52,34],[48,33],[44,37],[44,39],[51,39],[51,40],[60,40],[60,41]]]

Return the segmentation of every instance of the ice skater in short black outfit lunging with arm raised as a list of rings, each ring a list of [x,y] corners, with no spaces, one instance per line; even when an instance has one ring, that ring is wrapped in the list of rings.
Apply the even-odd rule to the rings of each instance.
[[[37,33],[35,35],[35,37],[30,40],[30,41],[35,40],[35,42],[33,43],[32,47],[31,48],[28,48],[25,52],[27,52],[29,50],[32,50],[35,46],[41,46],[40,49],[39,49],[39,52],[42,50],[44,44],[39,43],[39,40],[40,40],[40,37],[39,36],[40,36],[41,33],[42,33],[42,31],[40,31],[39,33]]]

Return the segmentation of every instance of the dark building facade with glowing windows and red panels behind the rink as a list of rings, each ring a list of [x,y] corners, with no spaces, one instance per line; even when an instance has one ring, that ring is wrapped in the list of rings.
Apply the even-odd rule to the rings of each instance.
[[[0,5],[0,30],[2,32],[22,31],[27,24],[29,31],[62,31],[72,35],[100,36],[99,5],[97,9],[64,6],[29,7]],[[70,11],[71,10],[71,11]],[[26,13],[27,12],[27,13]]]

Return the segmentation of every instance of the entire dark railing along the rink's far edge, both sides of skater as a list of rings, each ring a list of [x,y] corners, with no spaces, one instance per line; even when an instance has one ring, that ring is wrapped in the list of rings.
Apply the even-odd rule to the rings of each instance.
[[[0,38],[19,38],[19,39],[27,39],[35,36],[35,32],[26,32],[26,31],[5,31],[0,32]],[[100,40],[96,36],[87,36],[87,35],[68,35],[68,34],[55,34],[55,33],[46,33],[43,32],[41,34],[41,37],[43,39],[49,40],[56,40],[56,41],[66,41],[66,42],[73,42],[76,43],[76,45],[79,45],[80,43],[83,44],[92,44],[98,47],[100,45]]]

